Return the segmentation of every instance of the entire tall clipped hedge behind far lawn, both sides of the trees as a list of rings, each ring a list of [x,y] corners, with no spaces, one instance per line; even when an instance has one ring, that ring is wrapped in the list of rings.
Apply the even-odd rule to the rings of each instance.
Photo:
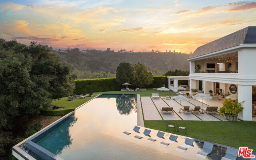
[[[165,84],[168,88],[168,78],[167,76],[154,76],[153,83],[146,88],[159,88],[162,84]],[[124,86],[120,86],[116,82],[116,78],[98,78],[98,79],[84,79],[75,80],[76,88],[74,94],[83,94],[90,92],[106,92],[121,90]],[[132,86],[137,88],[137,86]]]

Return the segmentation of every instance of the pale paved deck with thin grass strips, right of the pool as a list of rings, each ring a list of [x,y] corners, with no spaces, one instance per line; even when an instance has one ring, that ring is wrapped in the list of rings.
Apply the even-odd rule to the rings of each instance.
[[[204,114],[200,113],[182,113],[180,112],[180,108],[183,106],[190,106],[190,108],[194,108],[194,106],[200,106],[202,108],[202,100],[195,100],[190,98],[190,101],[176,101],[173,99],[152,99],[151,97],[140,97],[141,104],[144,114],[144,120],[205,120],[205,121],[228,121],[226,118],[218,115],[218,113],[209,113]],[[220,100],[203,100],[203,109],[206,109],[207,106],[222,106],[222,102],[224,99]],[[139,102],[140,103],[140,102]],[[138,104],[139,104],[138,103]],[[164,113],[160,112],[160,108],[162,107],[173,107],[174,114],[172,113]],[[201,110],[202,111],[202,110]],[[140,113],[139,113],[140,114]],[[140,118],[140,121],[142,119]]]

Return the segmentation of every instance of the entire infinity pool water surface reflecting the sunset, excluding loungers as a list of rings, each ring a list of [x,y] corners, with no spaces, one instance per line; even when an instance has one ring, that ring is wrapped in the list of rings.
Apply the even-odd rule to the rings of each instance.
[[[32,141],[64,160],[199,159],[195,154],[202,148],[201,142],[180,153],[175,149],[184,143],[182,137],[164,147],[160,140],[150,143],[147,138],[137,140],[132,134],[122,134],[137,125],[136,112],[136,94],[103,94]],[[152,130],[150,135],[156,133]],[[214,146],[206,159],[220,160],[225,153],[226,148]]]

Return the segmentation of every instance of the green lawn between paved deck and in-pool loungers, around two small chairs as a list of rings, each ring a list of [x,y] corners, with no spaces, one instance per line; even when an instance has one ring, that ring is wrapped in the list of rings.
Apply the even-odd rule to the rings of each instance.
[[[226,121],[186,121],[186,120],[144,120],[146,128],[166,132],[166,122],[186,124],[187,133],[180,135],[206,140],[239,148],[241,146],[256,150],[256,122],[226,122]],[[173,133],[171,130],[168,132]]]

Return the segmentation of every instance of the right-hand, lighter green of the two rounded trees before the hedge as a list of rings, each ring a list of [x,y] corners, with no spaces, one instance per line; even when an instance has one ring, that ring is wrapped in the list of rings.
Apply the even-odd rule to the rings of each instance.
[[[151,72],[147,71],[144,64],[135,64],[134,68],[134,83],[142,88],[153,83],[153,75]]]

